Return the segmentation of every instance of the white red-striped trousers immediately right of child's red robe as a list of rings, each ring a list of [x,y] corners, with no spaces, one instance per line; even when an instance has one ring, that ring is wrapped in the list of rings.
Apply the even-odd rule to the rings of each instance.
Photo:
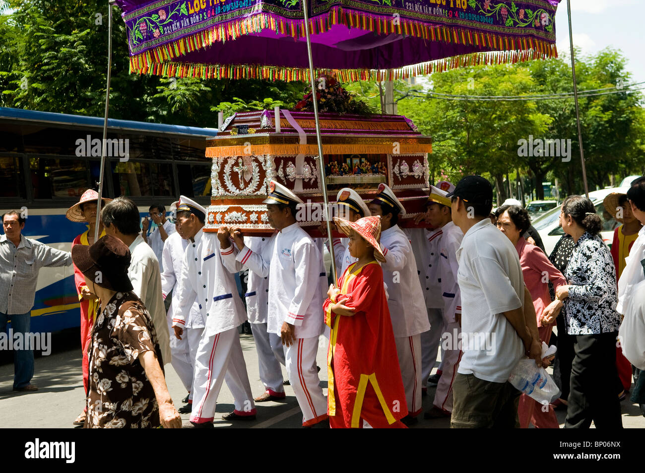
[[[408,413],[417,416],[421,412],[421,334],[410,337],[394,337],[405,389]]]

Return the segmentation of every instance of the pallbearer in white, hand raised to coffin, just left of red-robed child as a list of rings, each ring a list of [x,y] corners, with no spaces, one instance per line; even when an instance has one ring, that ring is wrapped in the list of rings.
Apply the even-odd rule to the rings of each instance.
[[[320,288],[323,257],[312,237],[298,225],[297,205],[303,201],[291,190],[271,181],[268,221],[279,230],[261,253],[244,245],[237,228],[231,228],[233,246],[222,257],[238,261],[258,274],[269,276],[268,332],[282,338],[286,371],[303,411],[303,427],[327,416],[327,399],[319,386],[316,368],[318,337],[323,333],[323,300]]]

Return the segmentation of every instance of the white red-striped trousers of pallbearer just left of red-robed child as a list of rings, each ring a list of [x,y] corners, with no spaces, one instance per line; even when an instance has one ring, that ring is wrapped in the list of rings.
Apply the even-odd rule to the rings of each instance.
[[[327,418],[327,398],[316,367],[318,337],[297,338],[293,345],[283,348],[289,382],[303,411],[303,425],[318,423]]]

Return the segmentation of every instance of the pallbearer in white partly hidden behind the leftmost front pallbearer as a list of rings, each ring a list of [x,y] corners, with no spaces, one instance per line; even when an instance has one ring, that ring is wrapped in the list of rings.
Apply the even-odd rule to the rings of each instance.
[[[177,211],[177,204],[179,201],[172,204],[171,209],[174,207]],[[175,214],[175,226],[176,226]],[[181,337],[174,334],[172,328],[173,314],[177,312],[179,306],[179,299],[177,299],[177,286],[179,285],[179,273],[184,262],[184,251],[188,247],[188,239],[184,236],[183,232],[173,232],[166,238],[163,245],[163,252],[161,259],[163,259],[163,272],[161,273],[161,291],[162,296],[166,296],[172,292],[172,300],[168,308],[168,328],[170,330],[170,353],[172,354],[172,367],[175,368],[177,376],[181,383],[186,388],[188,394],[188,404],[192,404],[193,392],[193,373],[195,371],[195,357],[197,357],[197,346],[201,339],[201,332],[204,329],[204,319],[199,311],[199,304],[195,303],[190,308],[188,317],[186,317],[186,325]],[[188,414],[190,406],[179,408],[181,414]]]

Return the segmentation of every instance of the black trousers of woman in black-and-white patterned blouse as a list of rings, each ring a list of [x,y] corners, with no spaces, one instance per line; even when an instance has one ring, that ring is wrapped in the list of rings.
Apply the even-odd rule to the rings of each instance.
[[[618,332],[576,335],[565,428],[622,428],[616,395]]]

